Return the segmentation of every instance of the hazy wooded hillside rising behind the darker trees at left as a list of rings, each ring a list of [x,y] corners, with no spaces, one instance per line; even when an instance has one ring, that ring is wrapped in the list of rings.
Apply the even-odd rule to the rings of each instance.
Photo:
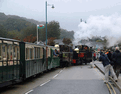
[[[37,24],[45,24],[45,22],[39,22],[34,19],[27,19],[25,17],[19,17],[16,15],[5,15],[4,13],[0,13],[0,24],[4,26],[6,31],[21,31],[27,27],[36,27]]]

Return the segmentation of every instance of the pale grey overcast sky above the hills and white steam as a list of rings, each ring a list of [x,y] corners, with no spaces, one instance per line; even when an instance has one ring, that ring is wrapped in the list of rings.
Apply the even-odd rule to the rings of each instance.
[[[0,12],[45,21],[46,0],[0,0]],[[55,8],[47,7],[48,21],[58,21],[60,27],[78,30],[80,19],[87,20],[90,15],[110,16],[121,14],[121,0],[47,0]]]

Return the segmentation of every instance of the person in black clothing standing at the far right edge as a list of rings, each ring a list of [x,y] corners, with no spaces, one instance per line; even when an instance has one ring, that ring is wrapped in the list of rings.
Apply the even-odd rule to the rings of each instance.
[[[114,61],[114,71],[118,78],[121,70],[121,52],[119,51],[119,47],[115,48],[115,52],[112,55],[112,60]]]

